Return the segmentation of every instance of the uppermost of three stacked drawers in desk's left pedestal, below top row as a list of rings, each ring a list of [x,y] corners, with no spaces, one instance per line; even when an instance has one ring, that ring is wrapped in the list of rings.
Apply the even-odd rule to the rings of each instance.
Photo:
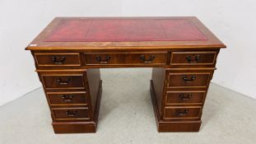
[[[85,89],[82,74],[43,75],[45,89]]]

